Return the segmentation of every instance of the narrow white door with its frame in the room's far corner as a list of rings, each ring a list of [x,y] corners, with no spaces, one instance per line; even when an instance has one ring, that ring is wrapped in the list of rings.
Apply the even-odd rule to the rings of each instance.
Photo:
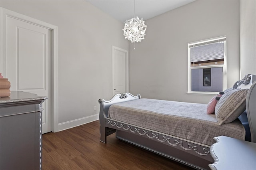
[[[112,46],[112,95],[128,92],[128,51]]]

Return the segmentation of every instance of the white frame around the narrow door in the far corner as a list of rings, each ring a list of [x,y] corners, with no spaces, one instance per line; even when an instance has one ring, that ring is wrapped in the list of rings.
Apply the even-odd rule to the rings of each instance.
[[[114,75],[113,51],[114,50],[122,51],[122,52],[126,53],[126,56],[125,56],[125,63],[126,63],[126,65],[125,65],[125,83],[126,83],[126,85],[125,85],[125,92],[128,93],[129,92],[129,51],[112,45],[112,95],[113,95],[113,92],[114,92],[114,79],[113,79],[113,75]]]

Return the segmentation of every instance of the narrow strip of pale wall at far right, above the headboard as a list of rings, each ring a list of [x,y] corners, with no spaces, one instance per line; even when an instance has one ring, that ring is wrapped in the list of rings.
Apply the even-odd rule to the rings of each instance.
[[[240,68],[241,78],[256,75],[256,1],[240,1]]]

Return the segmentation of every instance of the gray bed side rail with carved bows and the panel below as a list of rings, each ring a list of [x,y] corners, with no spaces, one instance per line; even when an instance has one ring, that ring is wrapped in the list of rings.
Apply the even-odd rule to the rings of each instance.
[[[116,129],[116,137],[196,169],[209,169],[214,162],[210,146],[177,138],[154,130],[106,119],[106,127]]]

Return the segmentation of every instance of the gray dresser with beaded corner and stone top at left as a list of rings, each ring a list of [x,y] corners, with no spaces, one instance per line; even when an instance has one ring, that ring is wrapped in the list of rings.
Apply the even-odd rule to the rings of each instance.
[[[1,170],[41,169],[41,113],[45,99],[22,91],[0,97]]]

